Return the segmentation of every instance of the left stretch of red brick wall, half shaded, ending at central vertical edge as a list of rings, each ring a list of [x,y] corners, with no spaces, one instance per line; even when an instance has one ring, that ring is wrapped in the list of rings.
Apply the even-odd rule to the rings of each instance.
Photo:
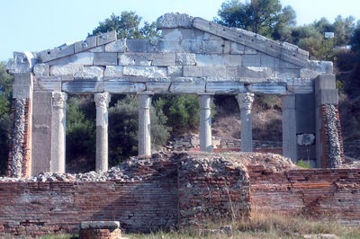
[[[124,181],[0,182],[0,236],[78,232],[81,221],[116,220],[125,231],[177,224],[177,166],[139,166]]]

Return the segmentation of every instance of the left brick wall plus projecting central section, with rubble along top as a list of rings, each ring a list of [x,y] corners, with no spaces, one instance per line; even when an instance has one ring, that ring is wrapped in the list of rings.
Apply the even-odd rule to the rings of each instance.
[[[156,155],[107,173],[0,178],[0,236],[78,233],[81,221],[95,220],[120,221],[125,232],[201,225],[229,217],[229,202],[248,215],[245,167],[209,156]]]

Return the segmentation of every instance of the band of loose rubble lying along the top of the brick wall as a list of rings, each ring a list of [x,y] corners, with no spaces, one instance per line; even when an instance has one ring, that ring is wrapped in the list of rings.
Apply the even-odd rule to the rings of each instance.
[[[154,173],[159,173],[163,164],[182,164],[183,167],[199,168],[199,170],[216,173],[224,167],[241,168],[247,171],[248,165],[263,165],[268,171],[284,172],[298,169],[288,158],[282,155],[261,153],[203,153],[203,152],[175,152],[172,154],[156,153],[150,158],[131,157],[123,163],[112,167],[107,172],[88,173],[39,173],[29,178],[0,177],[0,181],[141,181]],[[157,166],[158,165],[158,166]]]

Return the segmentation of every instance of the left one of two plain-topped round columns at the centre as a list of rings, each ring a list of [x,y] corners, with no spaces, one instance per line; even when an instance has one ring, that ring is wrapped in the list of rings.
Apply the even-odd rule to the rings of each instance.
[[[138,93],[139,102],[139,156],[151,156],[150,107],[153,93]]]

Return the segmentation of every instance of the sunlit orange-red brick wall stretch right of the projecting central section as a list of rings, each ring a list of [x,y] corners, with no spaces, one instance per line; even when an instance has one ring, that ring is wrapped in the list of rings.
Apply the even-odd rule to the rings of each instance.
[[[252,208],[360,223],[360,169],[248,170]]]

